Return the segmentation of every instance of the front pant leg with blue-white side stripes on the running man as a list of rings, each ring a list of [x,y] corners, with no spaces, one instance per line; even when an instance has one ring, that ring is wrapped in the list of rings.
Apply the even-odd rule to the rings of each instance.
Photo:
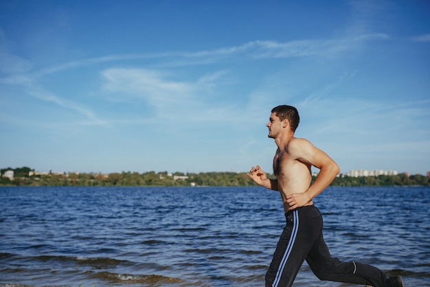
[[[321,214],[313,206],[300,207],[286,214],[286,226],[266,273],[267,287],[293,284],[321,229]]]

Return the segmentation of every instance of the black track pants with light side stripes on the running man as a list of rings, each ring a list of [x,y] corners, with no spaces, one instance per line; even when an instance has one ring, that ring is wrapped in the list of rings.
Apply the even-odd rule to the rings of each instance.
[[[294,282],[304,260],[321,280],[385,286],[387,277],[374,266],[332,258],[322,234],[322,216],[314,205],[285,214],[286,226],[266,273],[267,287],[287,287]]]

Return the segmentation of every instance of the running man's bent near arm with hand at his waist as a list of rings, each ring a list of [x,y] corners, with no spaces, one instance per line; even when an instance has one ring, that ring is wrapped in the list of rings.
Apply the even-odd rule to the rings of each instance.
[[[308,187],[306,192],[291,194],[291,196],[287,197],[286,201],[290,205],[290,210],[292,210],[306,205],[315,196],[323,192],[339,174],[340,169],[339,165],[326,152],[319,150],[306,139],[294,139],[288,144],[288,153],[296,157],[297,160],[309,163],[320,170],[317,179]]]

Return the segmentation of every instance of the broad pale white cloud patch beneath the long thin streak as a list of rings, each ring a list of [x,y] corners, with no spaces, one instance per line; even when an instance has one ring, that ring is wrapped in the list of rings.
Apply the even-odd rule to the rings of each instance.
[[[213,102],[208,95],[214,82],[224,74],[224,71],[216,71],[186,82],[174,80],[177,76],[163,71],[113,68],[102,71],[106,80],[103,90],[117,97],[143,100],[157,119],[223,122],[234,112],[222,102]]]

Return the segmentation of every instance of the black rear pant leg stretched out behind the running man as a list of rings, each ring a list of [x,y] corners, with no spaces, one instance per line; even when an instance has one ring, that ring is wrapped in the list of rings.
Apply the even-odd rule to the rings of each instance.
[[[321,280],[375,287],[385,286],[387,280],[385,274],[374,266],[358,262],[341,262],[338,258],[332,257],[324,242],[322,231],[311,247],[306,262]]]

